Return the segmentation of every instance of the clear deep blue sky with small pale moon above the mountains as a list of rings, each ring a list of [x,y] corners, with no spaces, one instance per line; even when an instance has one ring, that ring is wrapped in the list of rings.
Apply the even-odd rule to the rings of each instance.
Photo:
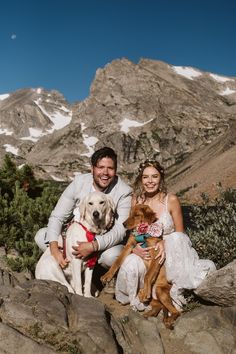
[[[235,0],[12,0],[0,6],[0,94],[89,95],[98,68],[126,57],[236,76]]]

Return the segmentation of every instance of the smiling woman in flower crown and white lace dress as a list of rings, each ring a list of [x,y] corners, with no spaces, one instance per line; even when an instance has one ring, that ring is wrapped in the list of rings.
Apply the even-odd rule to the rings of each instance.
[[[161,261],[165,260],[167,279],[172,283],[170,295],[177,309],[186,303],[184,289],[196,289],[215,265],[210,260],[200,260],[184,233],[183,215],[178,197],[167,193],[164,169],[157,161],[141,163],[134,183],[132,205],[147,204],[156,213],[163,226],[163,241],[160,242]],[[143,259],[149,258],[148,248],[137,245],[122,264],[116,281],[116,299],[130,303],[142,311],[145,305],[137,296],[143,287],[146,268]]]

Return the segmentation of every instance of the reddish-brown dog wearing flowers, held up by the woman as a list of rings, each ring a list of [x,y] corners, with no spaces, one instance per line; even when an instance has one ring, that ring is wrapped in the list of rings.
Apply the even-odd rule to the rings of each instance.
[[[151,225],[156,221],[156,214],[153,210],[144,204],[137,204],[131,210],[129,218],[124,222],[124,226],[128,230],[136,229],[140,224],[147,223]],[[157,316],[161,309],[164,312],[163,322],[167,328],[173,328],[173,323],[175,319],[180,315],[179,311],[172,304],[170,297],[170,288],[171,285],[167,282],[165,267],[159,264],[160,257],[156,257],[158,251],[156,250],[156,245],[160,241],[160,238],[157,237],[147,237],[146,244],[150,249],[150,260],[144,260],[147,272],[144,278],[144,287],[140,289],[138,296],[140,301],[147,302],[151,299],[152,287],[154,285],[154,291],[156,299],[151,300],[152,309],[144,314],[145,317]],[[137,238],[134,235],[134,232],[131,233],[129,239],[124,246],[123,251],[116,261],[112,264],[111,268],[106,274],[101,277],[103,283],[109,282],[113,276],[116,274],[124,259],[132,252],[132,249],[137,244]],[[170,312],[170,316],[168,315]]]

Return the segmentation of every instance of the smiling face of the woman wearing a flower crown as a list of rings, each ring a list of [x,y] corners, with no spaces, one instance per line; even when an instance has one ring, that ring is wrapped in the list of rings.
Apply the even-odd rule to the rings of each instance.
[[[146,167],[143,170],[142,185],[145,193],[155,194],[158,192],[161,181],[161,175],[153,166]]]

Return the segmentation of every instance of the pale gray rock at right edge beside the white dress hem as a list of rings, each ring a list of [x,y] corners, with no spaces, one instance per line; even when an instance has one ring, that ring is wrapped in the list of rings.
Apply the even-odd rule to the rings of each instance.
[[[209,274],[195,293],[220,306],[236,306],[236,260]]]

